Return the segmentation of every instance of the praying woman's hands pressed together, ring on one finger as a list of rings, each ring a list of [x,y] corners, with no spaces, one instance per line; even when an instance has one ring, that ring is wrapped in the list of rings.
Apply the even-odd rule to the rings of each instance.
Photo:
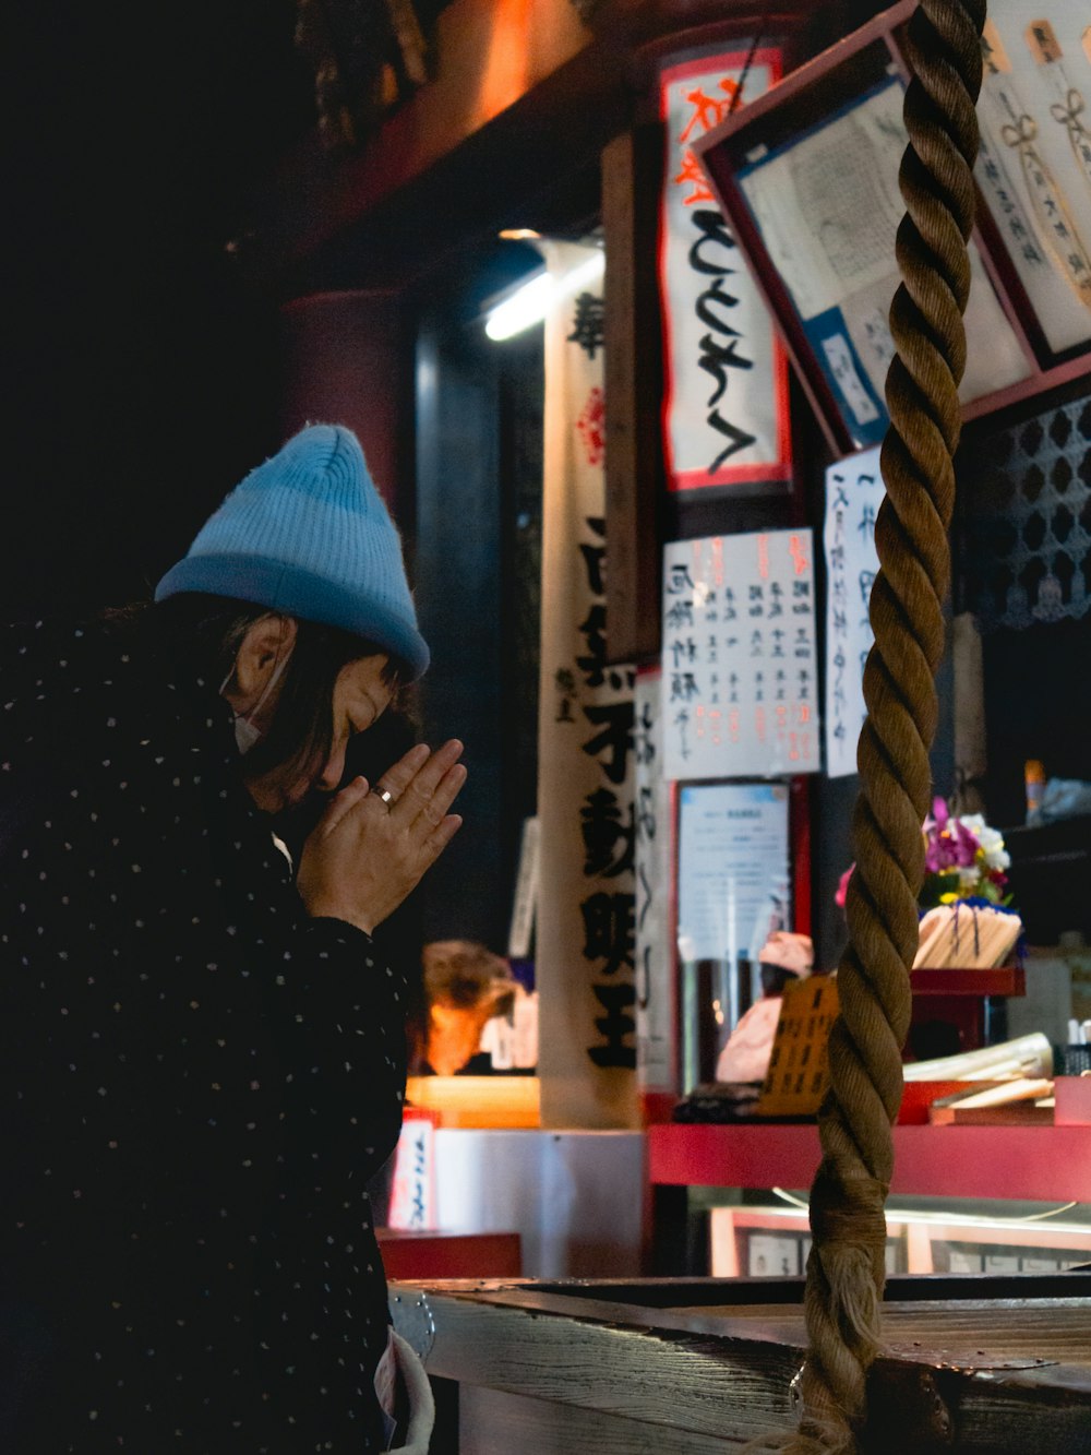
[[[371,934],[401,904],[461,826],[448,813],[465,783],[457,739],[410,748],[372,789],[353,778],[307,838],[297,888],[307,914]]]

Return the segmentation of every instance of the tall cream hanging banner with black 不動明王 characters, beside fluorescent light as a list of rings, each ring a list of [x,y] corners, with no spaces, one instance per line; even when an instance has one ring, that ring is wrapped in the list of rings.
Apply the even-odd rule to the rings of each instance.
[[[591,253],[544,250],[554,276]],[[639,1125],[634,672],[605,661],[604,370],[586,297],[562,294],[546,319],[535,984],[543,1125],[612,1128]]]

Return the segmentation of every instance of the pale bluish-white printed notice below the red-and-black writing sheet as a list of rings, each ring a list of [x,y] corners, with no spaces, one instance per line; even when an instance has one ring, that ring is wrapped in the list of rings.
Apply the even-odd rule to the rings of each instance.
[[[679,959],[756,962],[790,918],[787,784],[679,789]]]

